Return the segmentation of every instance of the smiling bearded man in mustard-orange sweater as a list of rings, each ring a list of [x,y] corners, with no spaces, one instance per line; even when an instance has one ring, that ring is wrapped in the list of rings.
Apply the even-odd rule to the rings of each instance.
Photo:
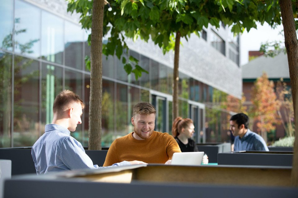
[[[124,160],[170,164],[173,154],[181,151],[172,135],[154,131],[155,116],[156,110],[150,103],[137,103],[131,118],[134,132],[115,139],[103,166]]]

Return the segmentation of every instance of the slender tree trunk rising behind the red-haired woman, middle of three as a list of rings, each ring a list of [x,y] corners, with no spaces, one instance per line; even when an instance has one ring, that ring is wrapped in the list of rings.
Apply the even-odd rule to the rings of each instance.
[[[180,48],[180,32],[176,33],[175,54],[174,54],[174,75],[173,75],[173,120],[179,116],[178,109],[178,82],[179,82],[179,48]]]

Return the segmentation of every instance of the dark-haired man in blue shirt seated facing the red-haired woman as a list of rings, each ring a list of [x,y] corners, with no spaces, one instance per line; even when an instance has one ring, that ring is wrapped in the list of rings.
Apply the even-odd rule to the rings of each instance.
[[[264,139],[248,129],[249,118],[244,113],[233,115],[230,130],[235,136],[234,151],[269,151]]]

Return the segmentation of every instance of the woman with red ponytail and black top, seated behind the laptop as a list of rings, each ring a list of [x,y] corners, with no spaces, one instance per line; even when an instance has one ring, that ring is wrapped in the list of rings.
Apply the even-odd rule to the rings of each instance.
[[[195,132],[192,119],[177,117],[172,126],[172,135],[177,141],[181,152],[198,152],[198,147],[192,136]],[[208,164],[208,157],[204,155],[203,164]]]

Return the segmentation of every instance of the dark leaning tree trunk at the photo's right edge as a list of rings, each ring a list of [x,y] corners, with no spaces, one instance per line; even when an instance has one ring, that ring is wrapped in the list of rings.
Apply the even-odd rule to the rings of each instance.
[[[298,123],[297,123],[297,80],[298,80],[298,43],[296,36],[296,29],[293,17],[293,10],[291,0],[280,0],[280,9],[282,14],[283,31],[285,34],[285,46],[287,49],[293,106],[295,109],[295,143],[294,143],[294,156],[293,168],[291,173],[292,185],[298,187]]]

